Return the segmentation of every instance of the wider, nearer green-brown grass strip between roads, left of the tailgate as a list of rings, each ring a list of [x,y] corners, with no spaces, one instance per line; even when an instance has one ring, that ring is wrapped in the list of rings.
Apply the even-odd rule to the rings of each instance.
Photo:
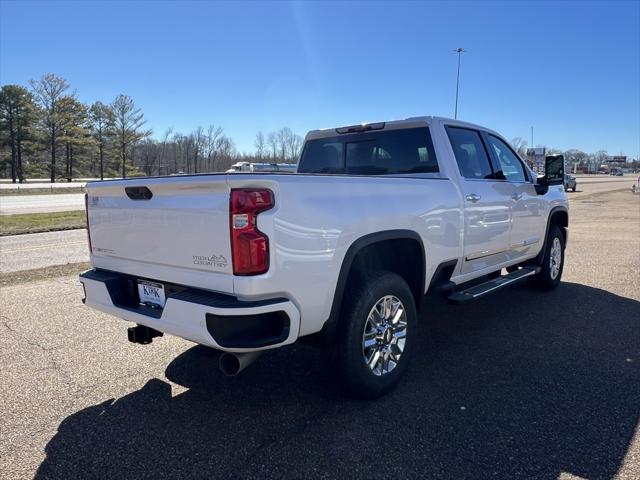
[[[0,236],[85,228],[84,210],[0,216]]]

